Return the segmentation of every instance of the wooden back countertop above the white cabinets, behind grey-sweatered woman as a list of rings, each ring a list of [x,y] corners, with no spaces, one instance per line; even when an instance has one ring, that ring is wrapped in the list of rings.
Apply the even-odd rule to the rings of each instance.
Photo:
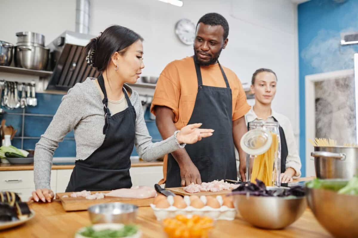
[[[139,159],[131,160],[131,167],[163,166],[162,161],[145,162]],[[52,169],[73,169],[74,164],[52,165]],[[4,164],[0,163],[0,171],[33,170],[33,164]]]

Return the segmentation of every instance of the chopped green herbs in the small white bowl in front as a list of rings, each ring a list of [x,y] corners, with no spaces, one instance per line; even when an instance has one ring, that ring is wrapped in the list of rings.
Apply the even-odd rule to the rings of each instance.
[[[86,230],[80,234],[90,238],[119,238],[132,236],[138,232],[138,228],[135,225],[125,225],[119,230],[103,229],[95,231],[92,227],[86,227]]]

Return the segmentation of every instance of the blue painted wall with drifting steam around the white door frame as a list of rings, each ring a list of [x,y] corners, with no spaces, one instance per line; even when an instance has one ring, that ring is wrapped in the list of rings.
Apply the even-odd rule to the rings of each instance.
[[[340,33],[358,31],[358,0],[311,0],[298,5],[300,157],[305,176],[305,76],[353,69],[358,47],[341,46]]]

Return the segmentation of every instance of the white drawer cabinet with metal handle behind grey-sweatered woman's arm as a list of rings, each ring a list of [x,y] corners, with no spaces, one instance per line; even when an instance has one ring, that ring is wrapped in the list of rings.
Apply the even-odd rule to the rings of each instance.
[[[51,188],[56,187],[56,170],[51,171]],[[19,193],[22,201],[27,201],[35,190],[34,171],[0,171],[0,190]]]

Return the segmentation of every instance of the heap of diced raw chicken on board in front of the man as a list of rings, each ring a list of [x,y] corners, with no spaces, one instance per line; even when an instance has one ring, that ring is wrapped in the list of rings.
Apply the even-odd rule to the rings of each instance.
[[[224,180],[214,180],[209,183],[203,182],[202,184],[194,184],[191,183],[187,187],[184,187],[184,191],[188,193],[197,193],[197,192],[219,192],[222,190],[229,190],[233,188],[237,188],[238,184],[230,184],[228,182],[224,182]]]

